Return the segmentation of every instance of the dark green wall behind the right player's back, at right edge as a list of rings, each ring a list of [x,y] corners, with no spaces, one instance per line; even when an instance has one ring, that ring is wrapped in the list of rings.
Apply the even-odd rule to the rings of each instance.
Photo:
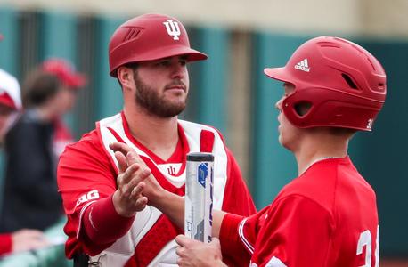
[[[357,134],[350,154],[377,193],[381,254],[408,257],[408,42],[355,41],[382,63],[388,92],[372,133]]]

